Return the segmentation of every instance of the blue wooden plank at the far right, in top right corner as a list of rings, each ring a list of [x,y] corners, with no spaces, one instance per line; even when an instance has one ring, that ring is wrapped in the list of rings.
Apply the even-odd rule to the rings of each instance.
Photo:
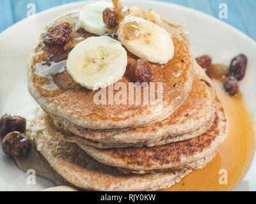
[[[256,9],[256,1],[255,0],[236,0],[235,3],[239,8],[239,12],[241,15],[241,19],[243,20],[243,24],[248,31],[248,34],[256,40],[256,18],[255,18],[255,9]]]

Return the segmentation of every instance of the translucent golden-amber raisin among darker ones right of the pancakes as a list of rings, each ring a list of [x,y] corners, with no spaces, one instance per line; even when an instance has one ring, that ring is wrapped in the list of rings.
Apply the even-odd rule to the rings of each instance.
[[[210,78],[225,77],[228,75],[228,66],[225,64],[211,64],[211,66],[206,69],[206,74]]]

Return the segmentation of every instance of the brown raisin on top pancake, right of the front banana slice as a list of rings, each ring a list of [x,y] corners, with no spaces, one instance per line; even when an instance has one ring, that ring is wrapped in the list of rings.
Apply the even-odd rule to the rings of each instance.
[[[154,73],[150,64],[144,59],[138,59],[129,66],[131,77],[134,82],[154,82]]]

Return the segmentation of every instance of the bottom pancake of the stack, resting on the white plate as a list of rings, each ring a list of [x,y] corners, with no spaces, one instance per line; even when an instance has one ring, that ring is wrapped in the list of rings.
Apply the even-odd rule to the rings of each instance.
[[[38,130],[39,129],[39,130]],[[124,174],[116,168],[99,163],[79,149],[75,143],[58,140],[50,135],[44,120],[37,115],[31,139],[40,155],[69,184],[94,191],[155,191],[179,182],[191,170],[173,170],[163,173]]]

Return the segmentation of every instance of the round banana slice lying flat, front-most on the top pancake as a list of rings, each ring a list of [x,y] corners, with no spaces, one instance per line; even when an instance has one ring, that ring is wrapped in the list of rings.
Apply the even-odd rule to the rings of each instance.
[[[90,37],[74,47],[67,59],[67,72],[88,89],[97,90],[118,82],[124,76],[127,52],[108,36]]]

